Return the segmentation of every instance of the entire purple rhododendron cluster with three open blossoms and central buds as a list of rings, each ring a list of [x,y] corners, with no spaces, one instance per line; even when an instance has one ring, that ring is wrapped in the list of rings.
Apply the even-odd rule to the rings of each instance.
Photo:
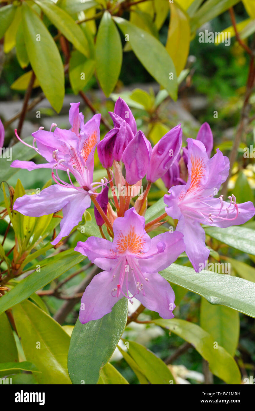
[[[15,160],[11,166],[28,170],[50,168],[56,184],[40,194],[16,199],[14,210],[39,217],[62,209],[60,233],[52,241],[57,245],[78,225],[93,201],[101,238],[92,236],[85,242],[79,241],[75,250],[103,272],[92,279],[83,294],[82,323],[100,319],[120,298],[131,302],[137,298],[147,308],[170,319],[175,295],[159,271],[170,266],[184,251],[198,271],[199,264],[205,264],[209,256],[201,224],[218,227],[243,224],[255,215],[255,208],[251,202],[237,205],[233,195],[229,202],[223,201],[222,196],[215,197],[229,173],[229,161],[219,149],[210,159],[213,136],[207,123],[201,126],[196,140],[187,139],[187,147],[181,148],[182,129],[177,125],[152,148],[143,132],[137,130],[135,118],[124,100],[117,100],[110,116],[113,129],[101,141],[100,114],[84,123],[79,103],[71,104],[69,130],[53,124],[54,131],[39,129],[33,133],[33,146],[29,147],[44,157],[46,163]],[[108,175],[108,179],[100,182],[93,182],[96,147]],[[66,173],[66,180],[60,178],[60,172]],[[139,196],[145,176],[147,187]],[[165,213],[145,224],[149,189],[159,178],[169,189],[164,196]],[[151,238],[148,232],[163,224],[162,219],[167,215],[178,220],[176,230]]]

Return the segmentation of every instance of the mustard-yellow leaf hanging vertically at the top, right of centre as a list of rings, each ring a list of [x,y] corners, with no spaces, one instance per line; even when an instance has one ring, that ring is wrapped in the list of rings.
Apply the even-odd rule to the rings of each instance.
[[[179,76],[188,58],[190,45],[189,19],[188,15],[174,3],[169,3],[169,5],[171,16],[165,48],[171,56],[176,74]]]

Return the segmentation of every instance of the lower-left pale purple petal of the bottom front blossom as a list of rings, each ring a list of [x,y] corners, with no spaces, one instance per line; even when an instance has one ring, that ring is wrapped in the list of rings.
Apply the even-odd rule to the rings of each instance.
[[[90,284],[87,286],[80,305],[79,319],[82,324],[92,320],[99,320],[104,315],[112,311],[113,306],[119,301],[123,295],[113,297],[117,289],[117,277],[112,280],[112,274],[108,271],[103,271],[97,274]]]

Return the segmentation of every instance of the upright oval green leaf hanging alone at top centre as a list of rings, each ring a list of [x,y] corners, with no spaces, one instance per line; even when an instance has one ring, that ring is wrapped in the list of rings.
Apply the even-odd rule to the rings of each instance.
[[[115,88],[122,66],[122,44],[112,16],[104,12],[96,36],[96,74],[106,97]]]

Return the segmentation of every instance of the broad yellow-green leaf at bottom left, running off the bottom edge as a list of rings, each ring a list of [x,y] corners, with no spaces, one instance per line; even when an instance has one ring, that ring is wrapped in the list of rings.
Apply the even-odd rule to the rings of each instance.
[[[26,359],[41,373],[34,374],[39,384],[71,384],[67,372],[70,337],[53,318],[26,300],[13,309]]]

